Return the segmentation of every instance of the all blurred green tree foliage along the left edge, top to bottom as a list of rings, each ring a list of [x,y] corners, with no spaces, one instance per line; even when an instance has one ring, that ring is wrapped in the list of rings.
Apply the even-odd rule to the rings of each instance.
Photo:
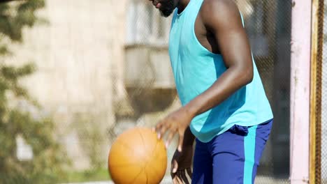
[[[44,0],[0,3],[0,58],[14,54],[8,43],[22,43],[22,29],[34,26],[39,20],[36,10],[44,6]],[[61,163],[66,162],[66,157],[55,140],[54,123],[51,118],[35,113],[41,108],[19,83],[35,67],[33,64],[14,67],[0,62],[0,183],[55,183],[58,176],[63,176]],[[11,107],[13,99],[27,103],[28,108]],[[36,111],[31,113],[30,109]],[[17,136],[31,146],[32,160],[17,158]]]

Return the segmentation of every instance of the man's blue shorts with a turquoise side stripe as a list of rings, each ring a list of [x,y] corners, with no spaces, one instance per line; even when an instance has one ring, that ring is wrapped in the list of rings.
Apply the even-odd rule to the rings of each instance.
[[[252,127],[234,125],[208,143],[196,139],[192,183],[254,183],[272,125],[273,120]]]

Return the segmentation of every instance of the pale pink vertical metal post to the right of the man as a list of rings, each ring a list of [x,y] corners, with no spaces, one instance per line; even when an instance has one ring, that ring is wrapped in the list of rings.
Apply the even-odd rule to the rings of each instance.
[[[309,182],[310,0],[293,0],[291,28],[291,184]]]

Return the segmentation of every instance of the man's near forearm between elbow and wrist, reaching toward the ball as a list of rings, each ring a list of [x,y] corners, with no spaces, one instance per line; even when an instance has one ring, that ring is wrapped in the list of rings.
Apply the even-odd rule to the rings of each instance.
[[[249,84],[252,77],[253,68],[249,68],[249,70],[228,68],[207,91],[191,100],[185,109],[193,116],[206,112],[226,100],[238,89]]]

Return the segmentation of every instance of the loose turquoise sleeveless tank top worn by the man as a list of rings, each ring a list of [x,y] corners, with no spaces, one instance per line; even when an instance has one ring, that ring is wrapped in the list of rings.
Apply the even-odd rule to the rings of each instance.
[[[170,29],[170,62],[183,106],[209,89],[227,70],[222,56],[210,52],[196,38],[194,25],[202,3],[203,0],[191,0],[180,14],[176,9]],[[254,63],[253,56],[252,60]],[[200,141],[208,142],[233,125],[258,125],[272,118],[273,112],[254,63],[252,82],[221,104],[196,116],[190,129]]]

